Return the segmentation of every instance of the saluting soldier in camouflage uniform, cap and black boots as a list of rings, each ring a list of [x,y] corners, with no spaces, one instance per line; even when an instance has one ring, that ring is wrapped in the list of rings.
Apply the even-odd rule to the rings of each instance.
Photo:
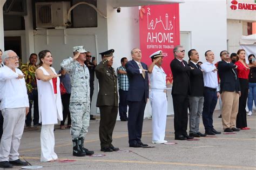
[[[73,47],[74,57],[64,59],[60,65],[69,72],[71,79],[70,115],[73,155],[84,157],[93,151],[84,148],[84,138],[90,121],[90,73],[84,64],[84,46]]]

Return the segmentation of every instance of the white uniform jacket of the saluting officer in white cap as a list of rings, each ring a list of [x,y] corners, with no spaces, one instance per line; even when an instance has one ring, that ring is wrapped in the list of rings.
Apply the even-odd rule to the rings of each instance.
[[[152,73],[149,73],[151,89],[166,89],[166,74],[162,67],[154,65]]]

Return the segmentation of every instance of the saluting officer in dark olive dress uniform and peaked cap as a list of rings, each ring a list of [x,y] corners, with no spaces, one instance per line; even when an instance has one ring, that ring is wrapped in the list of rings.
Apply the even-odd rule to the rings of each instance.
[[[100,151],[103,152],[119,150],[119,148],[112,145],[112,134],[114,125],[116,125],[118,108],[117,76],[112,67],[113,52],[114,50],[111,49],[99,53],[102,55],[102,62],[95,68],[96,77],[99,80],[99,93],[96,106],[99,107],[100,111]]]

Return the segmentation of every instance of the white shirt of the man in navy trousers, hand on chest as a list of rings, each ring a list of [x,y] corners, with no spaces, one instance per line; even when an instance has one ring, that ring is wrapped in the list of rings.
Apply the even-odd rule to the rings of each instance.
[[[210,87],[212,89],[217,89],[217,92],[219,91],[218,86],[218,76],[217,71],[213,72],[214,69],[216,69],[215,65],[213,63],[205,62],[201,65],[201,69],[203,71],[204,76],[204,86]]]

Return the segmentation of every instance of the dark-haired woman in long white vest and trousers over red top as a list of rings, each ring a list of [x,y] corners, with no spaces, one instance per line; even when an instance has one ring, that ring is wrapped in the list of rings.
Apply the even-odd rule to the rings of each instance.
[[[60,74],[51,67],[52,56],[49,50],[39,52],[38,57],[41,66],[36,70],[39,123],[42,123],[41,162],[53,162],[58,159],[54,152],[54,124],[63,119],[59,90]]]

